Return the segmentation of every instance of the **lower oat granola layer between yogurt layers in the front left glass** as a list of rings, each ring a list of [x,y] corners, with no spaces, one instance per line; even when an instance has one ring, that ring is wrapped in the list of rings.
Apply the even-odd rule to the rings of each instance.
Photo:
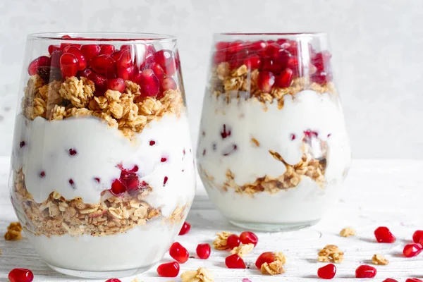
[[[163,217],[159,208],[145,202],[147,195],[152,192],[151,187],[123,197],[105,192],[97,204],[85,204],[80,198],[65,200],[55,191],[47,200],[37,203],[25,188],[22,170],[15,177],[14,195],[22,204],[27,221],[24,228],[35,235],[113,235]],[[187,206],[177,207],[164,220],[180,222],[187,210]]]

